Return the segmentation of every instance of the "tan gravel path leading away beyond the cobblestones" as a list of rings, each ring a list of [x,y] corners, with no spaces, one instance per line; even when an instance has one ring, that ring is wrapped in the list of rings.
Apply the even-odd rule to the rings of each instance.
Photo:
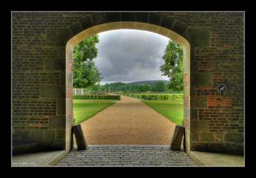
[[[169,145],[175,123],[140,100],[121,96],[81,126],[89,145]]]

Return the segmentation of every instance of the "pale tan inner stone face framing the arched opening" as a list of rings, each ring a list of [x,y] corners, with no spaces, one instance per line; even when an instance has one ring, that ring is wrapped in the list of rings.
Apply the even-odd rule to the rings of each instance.
[[[119,14],[119,13],[117,13]],[[101,15],[101,16],[100,16]],[[133,13],[134,15],[134,13]],[[108,19],[108,17],[105,17],[103,13],[96,13],[96,16],[103,17]],[[150,17],[150,16],[148,16]],[[181,22],[177,22],[177,26],[174,29],[177,29],[176,33],[175,31],[168,29],[173,28],[173,19],[172,18],[163,18],[163,16],[158,16],[157,14],[152,13],[151,17],[154,21],[154,23],[163,24],[163,26],[159,26],[156,24],[150,24],[150,19],[147,17],[147,22],[140,22],[141,20],[134,20],[134,22],[125,22],[119,19],[118,22],[104,22],[102,24],[97,24],[92,27],[88,27],[82,31],[78,31],[77,29],[81,30],[81,26],[83,26],[83,20],[79,21],[81,26],[79,24],[73,24],[73,26],[76,27],[76,30],[70,26],[70,31],[76,31],[76,35],[72,36],[70,40],[68,40],[66,45],[66,119],[67,119],[67,130],[70,130],[70,127],[72,126],[72,120],[73,120],[73,114],[72,114],[72,56],[73,56],[73,49],[77,45],[77,43],[83,41],[84,39],[92,36],[93,34],[102,33],[104,31],[111,31],[114,29],[138,29],[143,31],[150,31],[153,33],[161,34],[163,36],[166,36],[167,38],[170,38],[171,40],[179,43],[179,45],[182,46],[184,51],[184,126],[186,128],[186,151],[189,151],[189,116],[190,116],[190,45],[188,40],[186,40],[182,34],[186,32],[188,27],[185,24],[182,24]],[[158,19],[159,22],[156,22],[156,17],[160,17]],[[92,18],[92,17],[91,17]],[[154,19],[155,18],[155,19]],[[122,16],[121,16],[122,19]],[[164,20],[163,20],[164,19]],[[163,22],[162,22],[163,21]],[[94,22],[95,23],[95,22]],[[168,26],[164,25],[168,24]],[[170,26],[172,24],[172,26]],[[72,144],[72,136],[71,131],[66,132],[66,148],[68,145]],[[69,146],[68,146],[69,147]],[[72,147],[72,146],[71,146]]]

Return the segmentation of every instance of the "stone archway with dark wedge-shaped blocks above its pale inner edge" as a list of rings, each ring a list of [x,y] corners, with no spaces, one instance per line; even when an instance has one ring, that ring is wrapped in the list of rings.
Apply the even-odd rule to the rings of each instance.
[[[186,151],[190,151],[190,131],[191,131],[191,58],[193,59],[194,47],[207,47],[209,45],[209,29],[189,29],[186,24],[172,17],[159,15],[157,13],[93,13],[78,22],[70,25],[67,29],[48,29],[48,34],[59,34],[56,38],[47,41],[49,45],[58,43],[66,46],[66,99],[65,115],[67,130],[72,124],[72,54],[74,46],[93,34],[114,29],[140,29],[166,36],[179,43],[184,50],[184,125],[186,128]],[[49,39],[49,38],[47,38]],[[61,41],[60,41],[61,39]],[[192,51],[192,52],[191,52]],[[192,55],[191,55],[192,54]],[[200,73],[196,75],[202,76]],[[207,76],[206,80],[212,80]],[[211,84],[210,84],[211,85]],[[205,98],[194,98],[195,106],[202,105]],[[204,102],[203,102],[204,104]],[[200,124],[193,122],[193,125]],[[66,144],[72,142],[70,131],[66,134]],[[66,145],[66,148],[67,148]],[[68,146],[69,147],[69,146]]]

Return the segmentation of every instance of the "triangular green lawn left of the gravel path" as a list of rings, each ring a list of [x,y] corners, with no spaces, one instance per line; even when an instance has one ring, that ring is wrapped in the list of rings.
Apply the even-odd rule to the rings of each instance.
[[[90,102],[90,100],[73,100],[73,113],[74,113],[74,124],[86,121],[86,119],[100,112],[106,107],[115,104],[111,102],[114,100],[95,100],[96,102]]]

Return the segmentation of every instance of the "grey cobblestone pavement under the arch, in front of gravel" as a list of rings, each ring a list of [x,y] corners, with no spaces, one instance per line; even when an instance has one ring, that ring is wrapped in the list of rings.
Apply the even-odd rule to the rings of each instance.
[[[86,151],[72,150],[56,166],[84,167],[188,167],[197,166],[184,151],[163,145],[89,145]]]

